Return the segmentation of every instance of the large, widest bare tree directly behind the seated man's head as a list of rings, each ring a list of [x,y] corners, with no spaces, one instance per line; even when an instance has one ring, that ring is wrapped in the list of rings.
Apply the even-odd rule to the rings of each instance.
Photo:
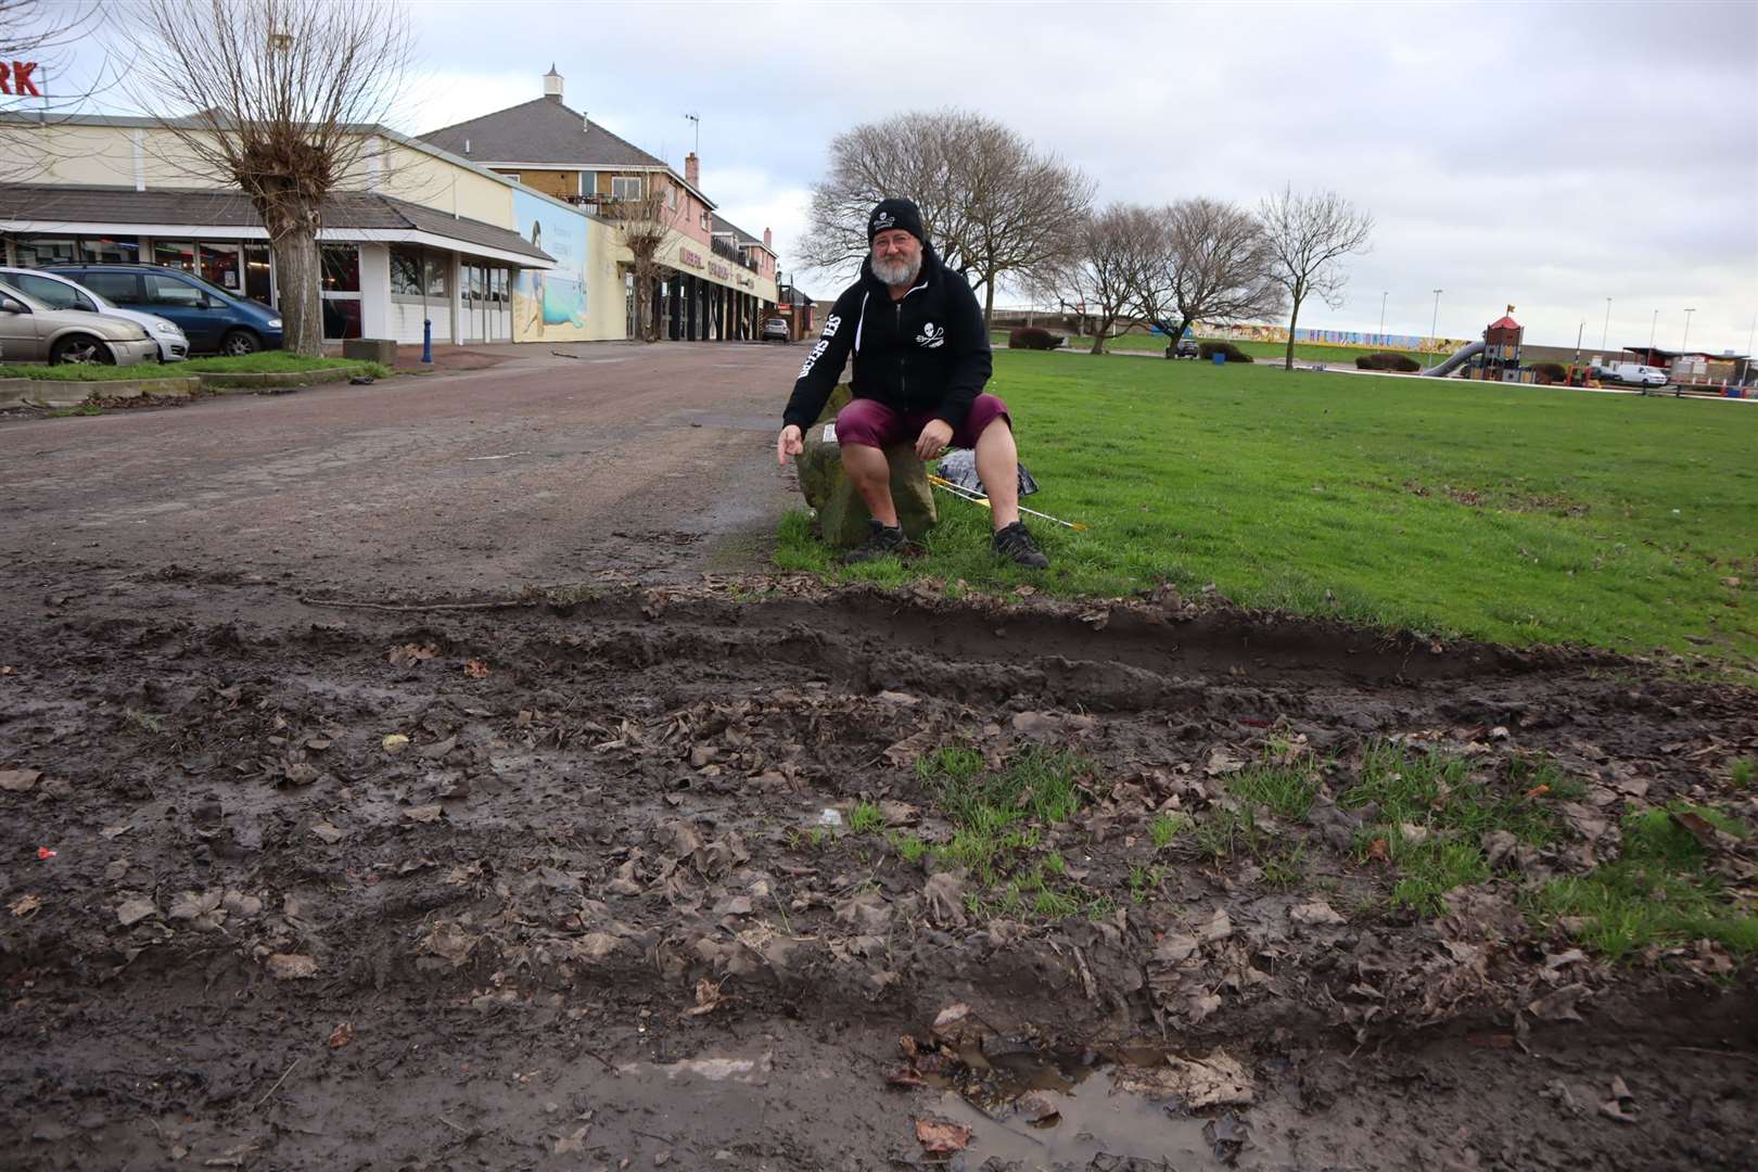
[[[830,174],[812,188],[805,264],[856,267],[867,257],[867,213],[888,197],[916,200],[946,267],[986,286],[986,323],[1000,281],[1042,279],[1065,262],[1092,183],[979,114],[897,114],[832,141]]]

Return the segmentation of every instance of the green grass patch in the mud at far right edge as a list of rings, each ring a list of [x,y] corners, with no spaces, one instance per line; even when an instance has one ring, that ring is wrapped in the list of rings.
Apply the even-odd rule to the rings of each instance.
[[[1695,814],[1735,838],[1749,833],[1739,819],[1709,807],[1675,803],[1631,814],[1623,822],[1619,859],[1586,875],[1552,879],[1528,914],[1563,924],[1584,947],[1610,959],[1705,938],[1740,956],[1758,952],[1758,917],[1746,914],[1709,870],[1709,849],[1679,824],[1681,814]]]

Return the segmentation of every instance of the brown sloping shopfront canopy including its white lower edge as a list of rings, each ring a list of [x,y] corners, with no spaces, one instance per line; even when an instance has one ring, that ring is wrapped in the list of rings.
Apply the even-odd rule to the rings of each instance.
[[[49,183],[0,183],[0,230],[14,234],[137,234],[185,239],[267,239],[262,218],[239,192]],[[425,244],[520,269],[554,269],[556,258],[517,232],[448,216],[394,195],[338,192],[323,202],[322,241]]]

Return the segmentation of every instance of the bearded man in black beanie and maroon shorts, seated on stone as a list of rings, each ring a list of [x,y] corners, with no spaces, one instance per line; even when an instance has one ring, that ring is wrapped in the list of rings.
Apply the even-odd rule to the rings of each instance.
[[[854,355],[854,401],[837,415],[837,445],[849,483],[872,515],[872,532],[847,561],[904,548],[884,448],[914,443],[923,460],[948,446],[976,448],[995,524],[992,550],[1044,569],[1050,561],[1020,520],[1020,453],[1007,404],[983,394],[993,358],[976,293],[941,264],[923,232],[921,211],[907,199],[874,207],[867,244],[860,279],[837,297],[795,380],[775,438],[777,464],[803,452],[805,429]]]

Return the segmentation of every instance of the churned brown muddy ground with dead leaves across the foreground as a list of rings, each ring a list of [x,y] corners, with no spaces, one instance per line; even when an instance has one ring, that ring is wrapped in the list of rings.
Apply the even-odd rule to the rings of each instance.
[[[1329,801],[1269,824],[1292,887],[1148,835],[1271,745],[1399,736],[1580,778],[1524,863],[1568,870],[1749,803],[1749,692],[1174,596],[434,601],[5,573],[7,1167],[1758,1165],[1749,965],[1607,966],[1508,879],[1396,914]],[[847,826],[944,842],[948,743],[1097,766],[1042,843],[1079,914]]]

